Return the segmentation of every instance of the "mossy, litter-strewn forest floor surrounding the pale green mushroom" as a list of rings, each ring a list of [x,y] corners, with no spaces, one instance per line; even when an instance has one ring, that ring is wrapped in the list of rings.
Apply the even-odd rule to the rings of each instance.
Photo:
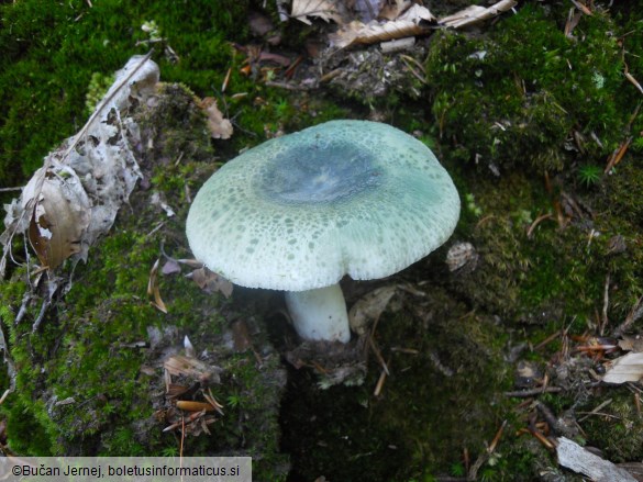
[[[2,239],[3,452],[245,455],[256,480],[581,480],[558,463],[566,438],[643,480],[643,5],[499,2],[459,24],[468,1],[424,2],[433,19],[388,2],[366,27],[379,4],[320,1],[286,22],[280,2],[1,7],[7,188],[132,55],[153,48],[162,77],[128,108],[141,177],[87,261],[43,271],[42,246]],[[343,280],[350,307],[378,306],[351,384],[297,351],[279,292],[231,294],[186,261],[189,204],[219,166],[334,119],[425,143],[463,206],[425,259]],[[212,399],[222,414],[181,431],[177,401]]]

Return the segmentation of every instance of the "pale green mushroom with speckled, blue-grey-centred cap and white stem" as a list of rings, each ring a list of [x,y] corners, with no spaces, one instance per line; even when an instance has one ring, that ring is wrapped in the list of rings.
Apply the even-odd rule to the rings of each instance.
[[[458,216],[453,181],[424,144],[387,124],[331,121],[228,161],[197,193],[186,232],[210,270],[286,291],[301,338],[347,343],[340,280],[402,270]]]

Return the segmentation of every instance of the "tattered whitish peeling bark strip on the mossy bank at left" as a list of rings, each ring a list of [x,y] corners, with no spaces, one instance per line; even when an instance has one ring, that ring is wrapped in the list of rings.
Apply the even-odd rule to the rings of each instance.
[[[29,236],[49,271],[68,258],[87,260],[89,247],[111,228],[141,178],[132,153],[138,126],[129,111],[145,102],[158,78],[149,54],[132,57],[82,130],[49,153],[21,197],[5,205],[0,277],[16,233]]]

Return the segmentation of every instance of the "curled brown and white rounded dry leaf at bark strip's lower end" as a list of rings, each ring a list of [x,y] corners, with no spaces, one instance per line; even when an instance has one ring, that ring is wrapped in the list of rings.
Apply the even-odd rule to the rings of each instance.
[[[45,176],[44,180],[40,176]],[[22,201],[26,210],[33,209],[29,240],[44,267],[53,270],[80,251],[90,202],[74,170],[56,166],[45,173],[41,168],[25,186]]]

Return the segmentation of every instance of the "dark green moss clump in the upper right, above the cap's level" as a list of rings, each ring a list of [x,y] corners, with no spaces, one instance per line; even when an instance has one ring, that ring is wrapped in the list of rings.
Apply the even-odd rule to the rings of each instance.
[[[454,156],[491,170],[542,172],[570,165],[564,146],[574,133],[585,158],[622,141],[634,94],[623,83],[618,27],[597,11],[583,15],[569,38],[565,16],[528,3],[486,37],[443,32],[433,40],[431,110]]]

